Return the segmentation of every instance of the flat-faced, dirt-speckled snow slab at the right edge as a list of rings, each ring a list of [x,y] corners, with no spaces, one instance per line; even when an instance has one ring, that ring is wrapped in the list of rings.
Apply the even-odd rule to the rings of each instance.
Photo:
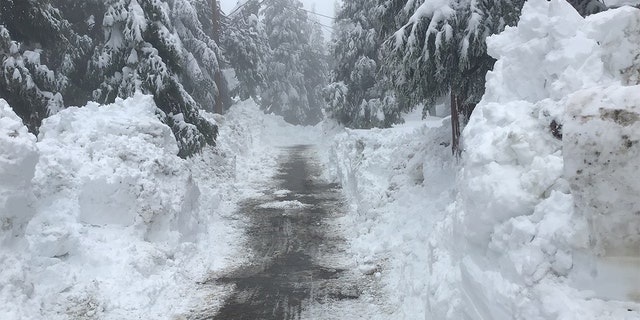
[[[584,90],[567,105],[565,174],[603,255],[640,257],[639,90]]]

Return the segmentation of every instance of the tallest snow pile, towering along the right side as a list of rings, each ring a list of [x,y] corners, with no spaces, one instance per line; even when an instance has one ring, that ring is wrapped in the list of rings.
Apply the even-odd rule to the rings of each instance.
[[[623,178],[640,165],[638,32],[637,9],[583,19],[564,1],[536,0],[517,27],[488,39],[498,62],[464,131],[451,228],[458,300],[436,317],[640,316],[638,186]]]

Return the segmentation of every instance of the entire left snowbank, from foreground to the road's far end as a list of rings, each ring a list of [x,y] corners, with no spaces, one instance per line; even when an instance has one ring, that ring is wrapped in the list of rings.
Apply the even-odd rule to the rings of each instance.
[[[63,110],[37,142],[0,101],[0,318],[164,319],[220,305],[231,288],[196,283],[247,258],[235,203],[274,174],[275,146],[313,129],[251,101],[205,116],[218,146],[183,160],[149,96]]]

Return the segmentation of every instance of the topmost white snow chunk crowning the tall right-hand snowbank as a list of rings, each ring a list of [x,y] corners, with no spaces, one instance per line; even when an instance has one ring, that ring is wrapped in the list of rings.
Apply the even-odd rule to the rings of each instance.
[[[602,72],[597,40],[582,31],[584,19],[570,4],[528,1],[522,11],[517,27],[487,39],[487,50],[498,61],[487,74],[485,102],[561,99],[611,78]]]

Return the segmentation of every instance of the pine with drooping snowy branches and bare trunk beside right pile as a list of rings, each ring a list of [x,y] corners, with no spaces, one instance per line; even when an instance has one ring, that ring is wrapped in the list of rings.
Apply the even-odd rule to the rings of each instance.
[[[462,126],[484,94],[494,59],[485,39],[518,21],[523,0],[443,0],[439,5],[409,0],[406,24],[387,42],[390,74],[397,94],[425,112],[450,95],[454,152]]]

